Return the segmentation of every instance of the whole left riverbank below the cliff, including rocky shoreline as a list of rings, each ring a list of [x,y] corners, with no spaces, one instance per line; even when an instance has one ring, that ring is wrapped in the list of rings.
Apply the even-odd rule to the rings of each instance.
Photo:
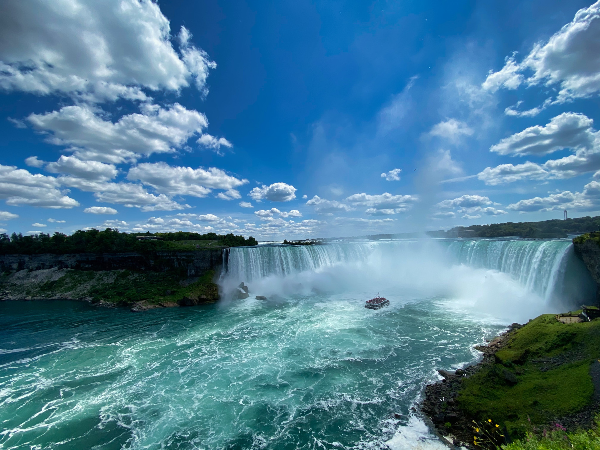
[[[22,270],[0,275],[0,300],[70,299],[137,312],[215,302],[214,277],[212,270],[193,278],[178,272]]]

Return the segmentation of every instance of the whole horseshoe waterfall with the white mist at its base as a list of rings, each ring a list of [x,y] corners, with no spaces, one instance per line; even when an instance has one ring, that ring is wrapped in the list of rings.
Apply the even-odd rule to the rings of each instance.
[[[462,268],[462,269],[461,269]],[[418,290],[418,295],[491,299],[511,296],[512,284],[539,297],[547,307],[571,307],[593,298],[593,283],[567,240],[465,239],[391,241],[310,246],[232,248],[225,275],[230,284],[247,281],[270,292],[281,280],[304,290],[338,291],[338,286],[377,292]],[[489,280],[488,280],[489,278]],[[326,286],[323,283],[326,283]],[[487,280],[487,287],[486,287]],[[481,281],[481,283],[480,283]],[[480,287],[479,284],[481,284]],[[279,284],[281,286],[281,283]],[[481,288],[481,289],[480,289]],[[469,291],[469,292],[467,292]],[[488,293],[490,291],[491,293]],[[290,294],[288,289],[285,294]]]

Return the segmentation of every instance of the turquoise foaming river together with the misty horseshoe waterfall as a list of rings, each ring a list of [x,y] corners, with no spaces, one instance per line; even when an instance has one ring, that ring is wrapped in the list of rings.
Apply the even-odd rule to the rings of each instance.
[[[0,448],[441,449],[411,409],[436,369],[595,290],[567,240],[232,248],[240,281],[139,314],[0,302]]]

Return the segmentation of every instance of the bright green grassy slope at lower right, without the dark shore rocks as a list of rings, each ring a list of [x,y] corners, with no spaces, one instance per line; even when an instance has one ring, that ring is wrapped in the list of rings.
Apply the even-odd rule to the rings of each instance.
[[[532,424],[545,424],[590,403],[589,367],[599,357],[600,319],[563,324],[544,314],[515,332],[496,353],[496,364],[463,379],[458,406],[472,417],[506,425],[512,436],[523,436],[528,417]],[[506,369],[517,375],[516,385],[506,382]]]

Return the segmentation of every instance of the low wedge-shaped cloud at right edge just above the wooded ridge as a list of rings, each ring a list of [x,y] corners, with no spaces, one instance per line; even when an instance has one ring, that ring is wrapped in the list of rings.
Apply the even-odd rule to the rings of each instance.
[[[548,197],[534,197],[508,205],[507,209],[520,212],[533,211],[598,211],[600,210],[600,183],[592,181],[586,184],[583,192],[562,191]]]

